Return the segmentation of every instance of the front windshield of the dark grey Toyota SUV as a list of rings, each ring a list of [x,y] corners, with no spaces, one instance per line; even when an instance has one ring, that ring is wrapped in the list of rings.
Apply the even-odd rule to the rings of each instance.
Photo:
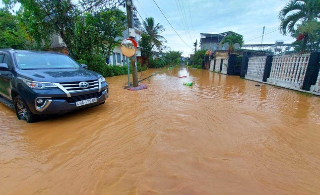
[[[79,68],[68,56],[48,53],[16,53],[15,60],[21,69]]]

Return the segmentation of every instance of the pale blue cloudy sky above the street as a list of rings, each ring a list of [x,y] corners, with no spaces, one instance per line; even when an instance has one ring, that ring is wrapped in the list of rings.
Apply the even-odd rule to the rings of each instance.
[[[155,4],[158,4],[166,18]],[[280,34],[279,11],[288,0],[133,0],[144,19],[154,17],[156,23],[165,27],[164,36],[171,50],[182,51],[183,56],[193,53],[193,43],[200,41],[200,33],[233,31],[244,36],[245,44],[260,44],[265,26],[263,43],[276,40],[292,43],[290,36]],[[142,20],[138,15],[140,21]],[[256,39],[255,39],[256,38]],[[198,48],[197,48],[198,49]]]

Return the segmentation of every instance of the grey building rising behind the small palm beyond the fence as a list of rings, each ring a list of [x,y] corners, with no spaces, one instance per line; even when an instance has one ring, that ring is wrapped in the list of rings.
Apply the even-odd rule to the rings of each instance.
[[[232,32],[232,31],[223,32],[220,34],[200,33],[200,35],[201,35],[201,39],[200,39],[201,50],[206,50],[206,51],[208,51],[210,49],[212,49],[212,51],[228,50],[229,44],[225,43],[222,45],[222,42],[226,37],[230,36],[233,33],[236,35],[240,35],[235,32]],[[242,35],[240,35],[240,36],[242,36]],[[240,48],[240,45],[238,43],[235,44],[235,49],[239,49],[239,48]]]

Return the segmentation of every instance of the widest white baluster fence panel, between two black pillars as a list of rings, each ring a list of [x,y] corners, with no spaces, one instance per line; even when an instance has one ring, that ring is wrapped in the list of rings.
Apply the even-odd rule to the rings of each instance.
[[[284,87],[301,88],[310,54],[275,56],[267,82]]]

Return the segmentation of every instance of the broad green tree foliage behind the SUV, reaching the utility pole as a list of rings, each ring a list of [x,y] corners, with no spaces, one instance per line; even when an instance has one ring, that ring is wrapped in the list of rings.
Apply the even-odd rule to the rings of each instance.
[[[3,0],[7,9],[21,3],[18,18],[34,48],[46,50],[59,35],[75,60],[103,73],[109,56],[126,29],[118,0]],[[109,5],[109,7],[107,7]],[[26,48],[29,49],[29,48]],[[101,66],[101,67],[100,67]]]

